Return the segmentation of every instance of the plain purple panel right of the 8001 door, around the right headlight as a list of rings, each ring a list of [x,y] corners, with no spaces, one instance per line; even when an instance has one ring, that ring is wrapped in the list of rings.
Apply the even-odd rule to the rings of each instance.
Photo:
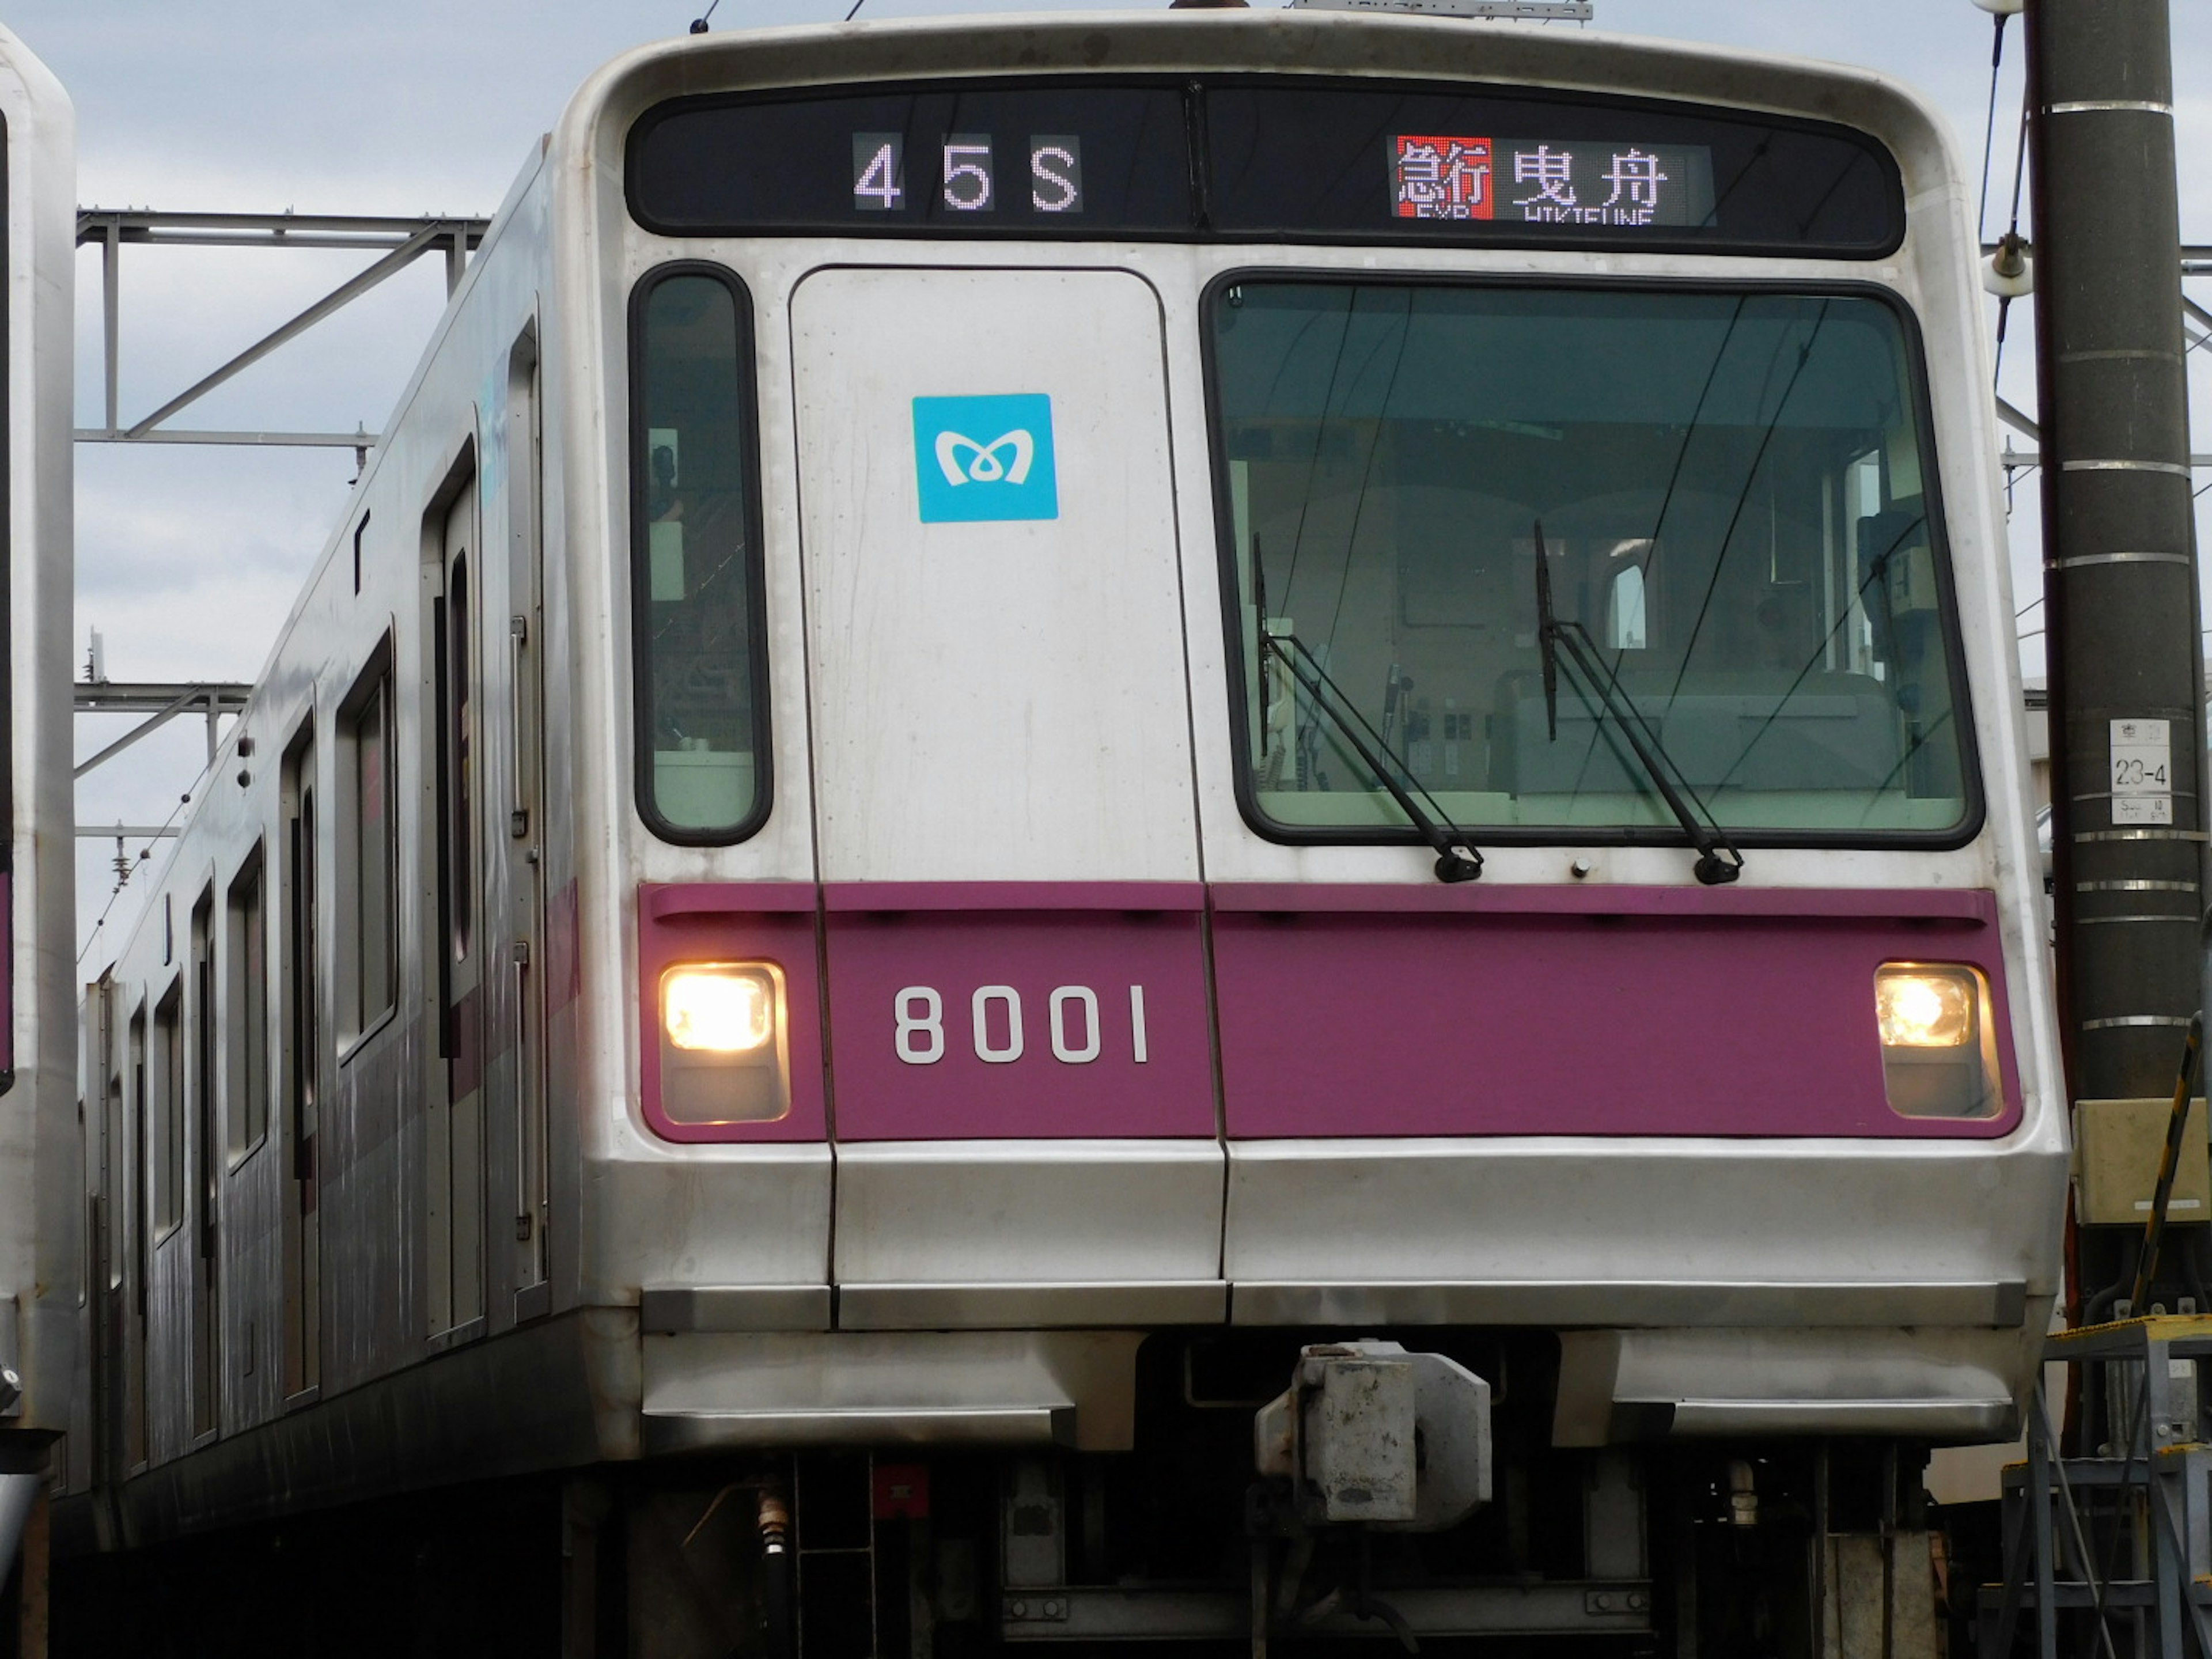
[[[1989,894],[1650,887],[1212,889],[1234,1139],[1991,1137],[2020,1121]],[[1989,975],[2004,1110],[1889,1110],[1882,962]]]

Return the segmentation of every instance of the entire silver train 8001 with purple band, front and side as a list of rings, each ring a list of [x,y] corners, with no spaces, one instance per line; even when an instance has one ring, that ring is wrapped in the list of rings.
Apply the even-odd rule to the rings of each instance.
[[[2066,1186],[1978,257],[1778,55],[606,64],[88,975],[97,1617],[1933,1655]]]

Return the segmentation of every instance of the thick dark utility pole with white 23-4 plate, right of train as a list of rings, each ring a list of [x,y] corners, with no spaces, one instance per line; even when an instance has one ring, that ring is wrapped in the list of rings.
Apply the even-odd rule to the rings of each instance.
[[[2026,24],[2059,1031],[2088,1148],[2148,1099],[2163,1126],[2203,980],[2172,38],[2168,0],[2028,0]],[[2081,1228],[2077,1316],[2128,1296],[2139,1230]],[[2194,1243],[2168,1245],[2154,1301],[2185,1294]]]

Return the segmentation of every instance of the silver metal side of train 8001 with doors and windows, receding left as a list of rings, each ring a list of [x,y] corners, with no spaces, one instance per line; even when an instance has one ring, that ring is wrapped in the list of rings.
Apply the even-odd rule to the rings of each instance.
[[[487,1371],[420,1369],[456,1347],[566,1411],[571,1458],[599,1451],[564,1318],[588,653],[566,617],[549,195],[533,161],[97,991],[115,1015],[88,1071],[117,1093],[117,1166],[144,1170],[106,1208],[102,1455],[126,1537],[232,1513],[268,1469],[310,1495],[535,1455]],[[456,787],[465,995],[440,971]],[[431,1398],[436,1447],[354,1464],[407,1444]]]

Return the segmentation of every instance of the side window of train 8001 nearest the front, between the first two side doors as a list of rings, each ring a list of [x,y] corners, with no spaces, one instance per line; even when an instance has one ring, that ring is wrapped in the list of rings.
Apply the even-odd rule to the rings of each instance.
[[[398,1000],[398,799],[392,754],[392,641],[338,706],[341,995],[358,1037]]]

